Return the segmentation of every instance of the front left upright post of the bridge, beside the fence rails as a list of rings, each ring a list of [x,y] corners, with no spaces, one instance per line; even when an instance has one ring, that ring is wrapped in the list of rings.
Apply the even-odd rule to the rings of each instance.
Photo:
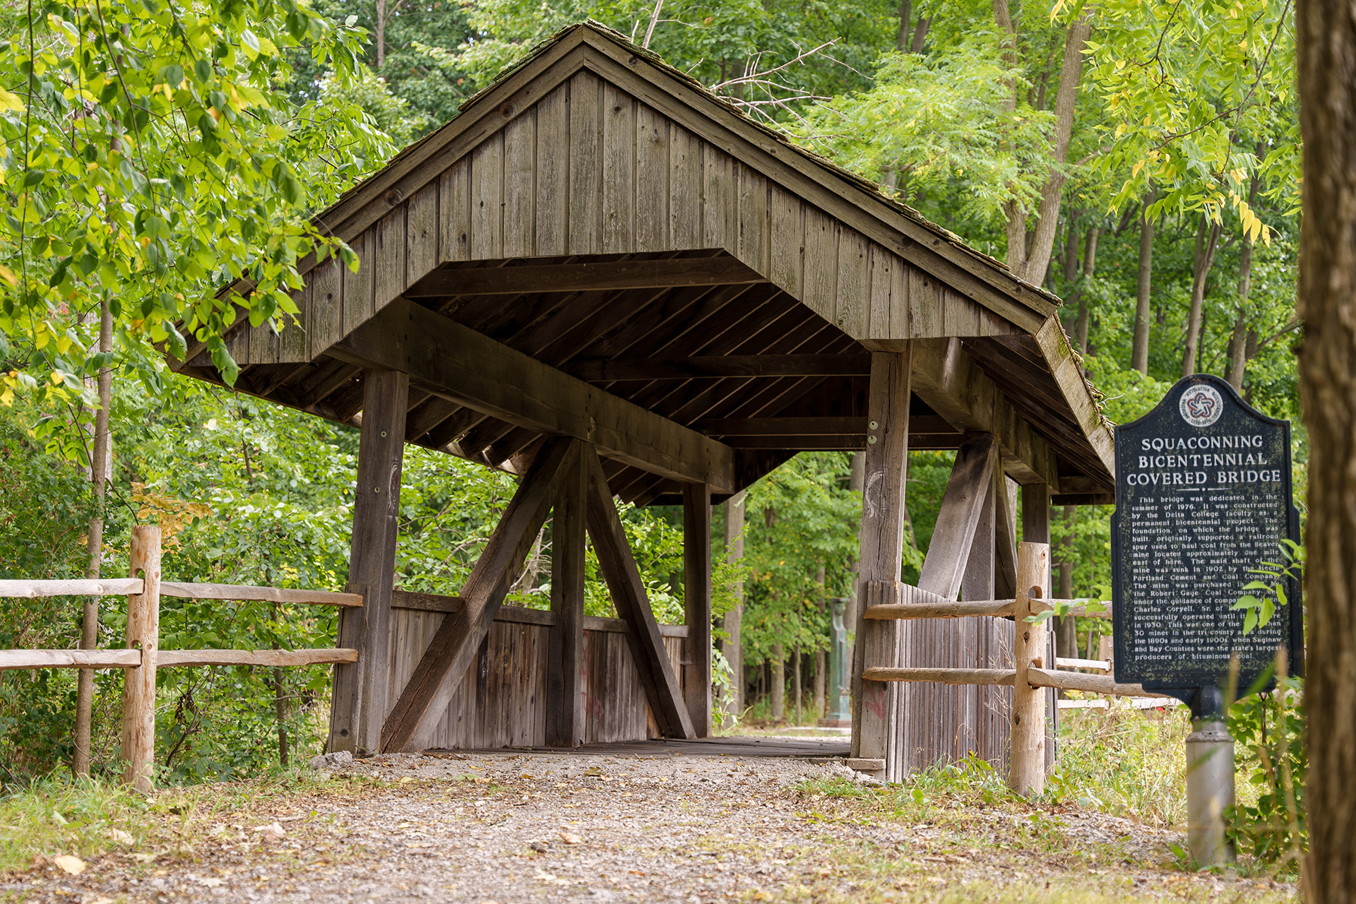
[[[396,370],[362,374],[362,427],[353,504],[348,591],[361,607],[339,613],[336,646],[357,649],[358,661],[336,665],[330,709],[330,749],[378,749],[389,703],[391,591],[396,577],[400,470],[405,447],[410,377]]]

